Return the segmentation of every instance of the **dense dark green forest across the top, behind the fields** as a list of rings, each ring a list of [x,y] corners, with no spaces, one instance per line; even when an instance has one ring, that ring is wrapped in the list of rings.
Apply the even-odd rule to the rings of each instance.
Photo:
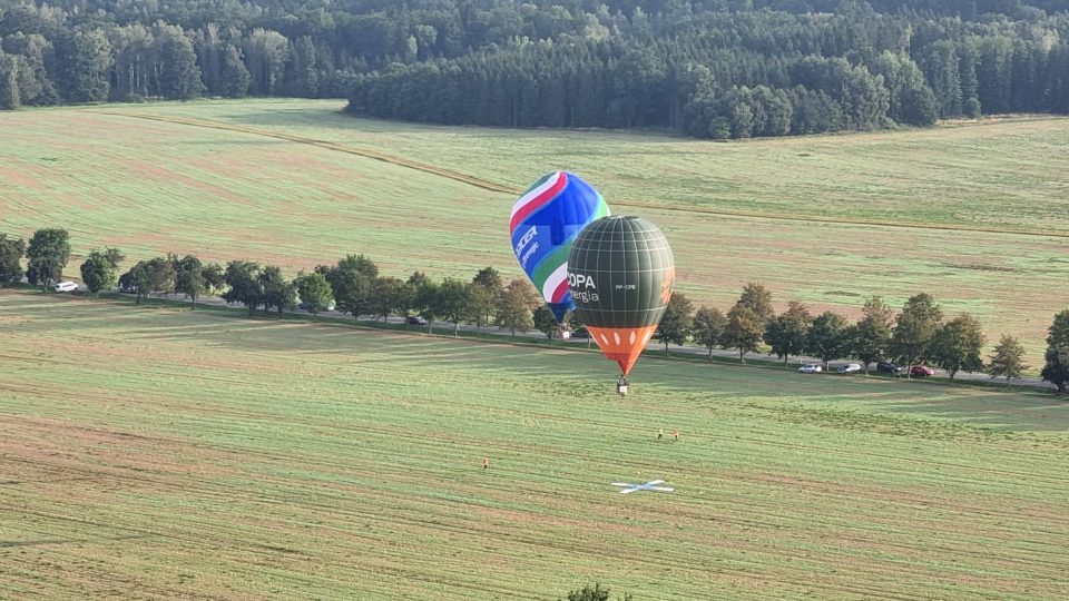
[[[347,98],[746,138],[1069,114],[1059,0],[0,0],[0,108]]]

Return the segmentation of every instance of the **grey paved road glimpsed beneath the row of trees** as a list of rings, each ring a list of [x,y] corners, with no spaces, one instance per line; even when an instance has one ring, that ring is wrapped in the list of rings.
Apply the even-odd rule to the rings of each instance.
[[[133,296],[133,295],[130,295],[130,296]],[[151,296],[153,298],[165,298],[165,296],[161,295],[161,294],[153,294],[153,295],[150,295],[150,296]],[[185,297],[183,297],[183,296],[179,296],[179,295],[174,295],[174,294],[166,296],[166,299],[167,299],[167,300],[187,300],[187,302],[188,302],[187,298],[185,298]],[[224,307],[231,307],[231,308],[234,308],[234,309],[246,311],[245,307],[242,306],[242,305],[227,305],[227,303],[226,303],[225,300],[223,300],[223,298],[217,297],[217,296],[203,296],[203,297],[200,297],[197,302],[200,303],[200,304],[204,304],[204,305],[224,306]],[[286,313],[294,313],[294,314],[307,315],[307,313],[304,312],[304,311],[287,311]],[[325,311],[325,312],[320,313],[320,315],[327,316],[327,317],[352,318],[352,315],[350,315],[350,314],[347,314],[347,313],[341,313],[341,312],[337,312],[337,311]],[[375,318],[375,317],[372,316],[372,315],[362,315],[361,318],[360,318],[360,321],[362,321],[362,322],[364,322],[364,321],[367,321],[367,322],[371,322],[371,321],[380,321],[380,322],[381,322],[382,318],[381,318],[381,317]],[[389,323],[400,325],[400,324],[403,324],[403,323],[404,323],[404,318],[403,318],[403,317],[390,317],[390,318],[389,318]],[[450,327],[451,324],[450,324],[449,322],[434,322],[434,326],[435,326],[435,329],[439,329],[439,331],[440,331],[440,329],[442,329],[442,328]],[[420,327],[422,327],[422,326],[420,326]],[[416,329],[418,329],[418,326],[412,326],[412,328],[413,328],[413,331],[416,331]],[[461,331],[464,331],[464,332],[475,332],[477,328],[475,328],[475,326],[472,326],[472,325],[461,325],[461,326],[460,326],[460,329],[461,329]],[[499,327],[492,327],[492,326],[483,326],[483,327],[482,327],[482,332],[487,332],[487,333],[494,334],[494,335],[502,335],[502,336],[508,336],[508,335],[511,333],[509,329],[499,328]],[[518,337],[522,337],[522,338],[536,338],[536,339],[541,339],[541,338],[545,338],[545,337],[546,337],[546,334],[543,334],[543,333],[541,333],[541,332],[539,332],[539,331],[537,331],[537,329],[524,331],[524,332],[519,332],[519,331],[518,331],[518,332],[516,333],[516,335],[517,335]],[[589,338],[569,339],[569,341],[563,341],[563,342],[567,343],[567,344],[576,344],[576,345],[586,344],[586,345],[588,345],[588,346],[592,344],[592,342],[591,342]],[[702,347],[696,347],[696,346],[669,345],[668,348],[669,348],[669,352],[670,352],[670,353],[690,353],[690,354],[702,354],[702,355],[707,355],[707,354],[708,354],[708,349],[707,349],[707,348],[702,348]],[[649,343],[649,345],[647,346],[647,352],[661,352],[661,353],[664,353],[664,351],[665,351],[665,345],[661,344],[661,343],[653,343],[653,342],[651,342],[651,343]],[[713,355],[714,355],[714,356],[717,356],[717,357],[725,357],[725,358],[738,358],[738,353],[737,353],[737,352],[735,352],[735,351],[728,351],[728,349],[724,349],[724,348],[714,348],[714,349],[713,349]],[[757,354],[751,354],[751,355],[747,355],[747,357],[749,357],[751,359],[761,359],[761,361],[765,361],[765,362],[769,361],[769,358],[771,358],[771,357],[767,356],[767,355],[757,355]],[[818,358],[815,358],[815,357],[800,356],[800,357],[791,357],[791,359],[790,359],[790,362],[788,362],[788,365],[790,365],[791,367],[796,367],[796,366],[804,365],[804,364],[808,364],[808,363],[821,364],[821,363],[823,363],[823,362],[822,362],[821,359],[818,359]],[[835,370],[837,366],[840,366],[840,365],[845,365],[845,364],[847,364],[847,363],[855,363],[855,362],[851,362],[851,361],[833,361],[833,362],[831,362],[831,363],[828,364],[828,371],[834,372],[834,370]],[[942,371],[942,370],[935,370],[935,375],[936,375],[936,376],[947,377],[947,372],[944,372],[944,371]],[[904,377],[904,376],[903,376],[903,377]],[[954,377],[954,380],[963,380],[963,381],[972,381],[972,382],[993,382],[993,383],[997,383],[997,384],[1007,384],[1006,380],[1002,380],[1002,378],[992,380],[991,376],[989,376],[988,374],[981,374],[981,373],[967,374],[967,373],[961,373],[961,372],[959,372],[958,375]],[[1014,385],[1014,386],[1032,386],[1032,387],[1038,387],[1038,388],[1055,390],[1055,387],[1053,387],[1051,384],[1049,384],[1049,383],[1047,383],[1047,382],[1043,382],[1042,380],[1031,378],[1031,377],[1014,380],[1013,382],[1011,382],[1011,383],[1009,383],[1009,384],[1012,384],[1012,385]]]

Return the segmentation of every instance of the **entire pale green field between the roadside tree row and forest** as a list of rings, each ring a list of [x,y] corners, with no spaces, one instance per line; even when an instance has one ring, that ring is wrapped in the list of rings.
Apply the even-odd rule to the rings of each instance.
[[[761,280],[781,306],[856,316],[870,295],[899,306],[923,290],[948,314],[974,313],[992,342],[1023,337],[1033,367],[1065,307],[1069,221],[1052,216],[1069,208],[1069,119],[715,144],[413,126],[340,108],[254,100],[0,115],[0,230],[65,226],[77,253],[195,252],[291,273],[367,253],[394,275],[470,277],[493,265],[519,277],[503,225],[514,195],[501,190],[565,167],[617,213],[661,226],[679,289],[698,303],[726,308]]]

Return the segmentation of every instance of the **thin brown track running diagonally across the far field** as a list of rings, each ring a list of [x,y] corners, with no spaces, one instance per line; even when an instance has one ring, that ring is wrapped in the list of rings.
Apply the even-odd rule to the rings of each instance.
[[[118,111],[111,111],[111,110],[88,110],[87,112],[106,115],[109,117],[128,117],[133,119],[144,119],[148,121],[159,121],[159,122],[184,125],[184,126],[192,126],[192,127],[203,127],[203,128],[215,129],[215,130],[236,131],[239,134],[247,134],[251,136],[261,136],[261,137],[274,138],[278,140],[286,140],[295,144],[315,146],[318,148],[324,148],[326,150],[333,150],[335,152],[344,152],[347,155],[354,155],[359,157],[380,160],[383,162],[389,162],[391,165],[396,165],[399,167],[415,169],[418,171],[423,171],[425,174],[444,177],[448,179],[452,179],[454,181],[460,181],[462,184],[474,186],[477,188],[492,191],[492,193],[507,194],[510,196],[520,196],[521,194],[523,194],[523,189],[521,188],[498,184],[496,181],[490,181],[488,179],[483,179],[469,174],[463,174],[461,171],[454,171],[452,169],[437,167],[434,165],[430,165],[419,160],[406,159],[395,155],[380,152],[377,150],[353,148],[351,146],[345,146],[343,144],[339,144],[331,140],[322,140],[322,139],[308,138],[304,136],[294,136],[291,134],[272,131],[269,129],[231,125],[231,124],[225,124],[220,121],[209,121],[204,119],[165,117],[159,115],[133,115],[133,114],[118,112]],[[651,210],[687,213],[687,214],[694,214],[694,215],[709,215],[714,217],[735,217],[741,219],[765,219],[765,220],[772,220],[772,221],[796,221],[796,223],[805,223],[805,224],[893,227],[893,228],[900,228],[900,229],[930,229],[930,230],[940,230],[940,231],[968,231],[968,233],[979,233],[979,234],[1001,234],[1001,235],[1030,236],[1030,237],[1041,237],[1041,238],[1069,238],[1069,231],[1057,231],[1057,230],[1013,229],[1013,228],[1004,228],[1004,227],[951,225],[951,224],[923,224],[923,223],[915,223],[915,221],[901,223],[901,221],[889,221],[889,220],[882,220],[882,219],[849,219],[849,218],[841,218],[841,217],[822,217],[822,216],[774,215],[768,213],[747,211],[747,210],[730,210],[730,209],[706,208],[706,207],[695,207],[695,206],[686,206],[686,207],[670,206],[670,205],[661,205],[656,203],[641,203],[638,200],[627,200],[627,199],[614,200],[612,205],[618,207],[635,207],[635,208],[644,208],[644,209],[651,209]]]

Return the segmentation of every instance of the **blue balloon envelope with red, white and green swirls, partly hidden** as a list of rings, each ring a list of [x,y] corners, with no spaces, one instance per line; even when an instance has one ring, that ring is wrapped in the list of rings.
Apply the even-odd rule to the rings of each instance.
[[[558,322],[575,308],[568,293],[568,253],[587,224],[609,214],[605,199],[575,174],[546,175],[512,207],[512,252]]]

